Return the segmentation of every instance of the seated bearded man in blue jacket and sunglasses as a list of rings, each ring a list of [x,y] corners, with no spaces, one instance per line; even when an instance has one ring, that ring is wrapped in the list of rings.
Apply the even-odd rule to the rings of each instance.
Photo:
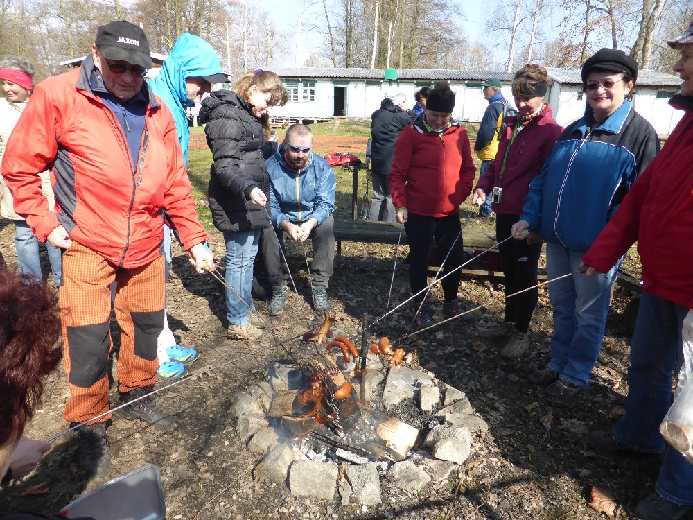
[[[332,214],[337,181],[332,167],[317,153],[311,152],[311,148],[313,132],[310,128],[291,125],[277,153],[267,159],[267,173],[270,174],[272,225],[280,240],[313,241],[310,277],[315,313],[321,315],[331,310],[327,286],[335,259]],[[263,241],[265,266],[272,284],[272,298],[267,305],[270,316],[283,313],[288,301],[286,281],[289,272],[283,263],[280,247],[277,240]]]

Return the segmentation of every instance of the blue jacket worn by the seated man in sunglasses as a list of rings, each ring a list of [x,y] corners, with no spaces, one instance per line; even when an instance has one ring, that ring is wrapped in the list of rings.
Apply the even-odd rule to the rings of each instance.
[[[306,222],[315,218],[324,223],[335,210],[337,181],[332,166],[310,152],[308,164],[300,170],[289,168],[284,161],[284,146],[267,159],[270,174],[270,208],[275,227],[284,220],[292,223]]]

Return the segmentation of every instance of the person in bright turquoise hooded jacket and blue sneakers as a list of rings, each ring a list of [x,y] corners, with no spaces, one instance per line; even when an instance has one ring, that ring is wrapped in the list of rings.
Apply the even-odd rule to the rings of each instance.
[[[164,102],[175,120],[176,134],[183,158],[188,164],[187,107],[200,103],[202,94],[211,92],[213,83],[225,83],[229,78],[222,73],[216,51],[199,36],[182,34],[175,42],[170,54],[155,80],[149,83],[152,91]],[[164,254],[166,254],[166,279],[171,263],[171,234],[164,225]],[[181,347],[173,332],[168,328],[168,318],[164,313],[164,330],[158,342],[159,370],[157,374],[164,379],[177,379],[189,373],[187,363],[198,358],[197,349]]]

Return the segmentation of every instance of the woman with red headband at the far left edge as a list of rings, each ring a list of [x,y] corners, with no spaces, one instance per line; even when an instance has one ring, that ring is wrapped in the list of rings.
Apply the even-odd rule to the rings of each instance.
[[[21,111],[26,107],[29,96],[34,89],[34,68],[24,58],[8,58],[0,62],[0,84],[3,97],[0,98],[0,161],[5,151],[5,145],[15,128]],[[44,197],[53,209],[53,189],[51,188],[51,176],[48,171],[41,174],[42,191]],[[22,275],[30,275],[41,279],[41,263],[39,261],[39,241],[31,232],[26,220],[15,213],[12,203],[12,193],[0,177],[0,216],[8,218],[15,224],[15,248],[17,249],[17,263]],[[48,258],[53,270],[55,285],[61,284],[62,263],[59,249],[46,243]]]

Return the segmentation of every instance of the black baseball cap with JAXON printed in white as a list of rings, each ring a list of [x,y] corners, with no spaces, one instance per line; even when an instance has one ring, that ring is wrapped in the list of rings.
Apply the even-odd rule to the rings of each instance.
[[[123,60],[143,69],[152,68],[147,37],[141,27],[129,21],[116,20],[100,26],[94,43],[108,60]]]

